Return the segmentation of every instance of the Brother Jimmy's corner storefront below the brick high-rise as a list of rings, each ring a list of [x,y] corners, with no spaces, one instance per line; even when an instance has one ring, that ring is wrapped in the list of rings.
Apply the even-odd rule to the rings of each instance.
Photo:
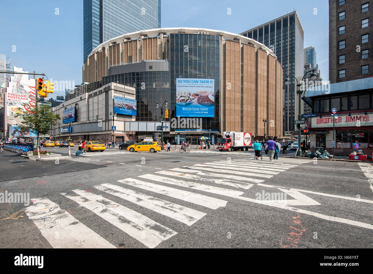
[[[335,118],[335,155],[347,156],[352,144],[359,141],[365,155],[372,155],[373,150],[373,78],[365,78],[335,84],[309,88],[306,100],[311,102],[312,112],[317,117],[310,121],[310,149],[324,147],[332,153],[333,116],[332,108],[336,108]]]

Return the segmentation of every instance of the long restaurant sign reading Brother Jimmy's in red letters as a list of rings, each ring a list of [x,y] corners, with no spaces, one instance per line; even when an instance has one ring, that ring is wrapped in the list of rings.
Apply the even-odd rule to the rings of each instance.
[[[311,128],[325,128],[333,127],[333,118],[335,119],[335,127],[364,127],[373,125],[373,113],[354,113],[351,116],[339,115],[338,117],[333,116],[322,116],[311,118]],[[372,115],[372,117],[370,117]]]

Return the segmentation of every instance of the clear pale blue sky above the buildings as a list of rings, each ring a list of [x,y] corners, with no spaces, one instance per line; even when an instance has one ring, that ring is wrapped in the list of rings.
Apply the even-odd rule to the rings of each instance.
[[[231,15],[227,14],[228,8]],[[317,15],[313,14],[314,8]],[[12,66],[29,72],[44,72],[53,81],[81,84],[82,1],[1,1],[0,10],[0,53],[12,59]],[[38,10],[42,11],[40,16]],[[326,0],[162,0],[161,24],[164,28],[210,28],[239,33],[293,10],[297,10],[304,28],[304,47],[315,47],[321,77],[328,80],[329,3]],[[12,51],[14,46],[15,52]],[[53,97],[64,93],[55,91]]]

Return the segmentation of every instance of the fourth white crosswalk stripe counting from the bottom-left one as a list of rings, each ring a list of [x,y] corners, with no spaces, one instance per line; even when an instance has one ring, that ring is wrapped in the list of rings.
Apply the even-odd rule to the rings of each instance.
[[[141,181],[133,178],[126,178],[124,180],[119,180],[119,183],[128,184],[129,186],[138,187],[140,189],[149,190],[151,192],[163,194],[176,199],[184,200],[189,203],[195,203],[211,209],[217,209],[220,206],[226,206],[227,201],[222,199],[217,199],[214,197],[189,192],[186,190],[175,189],[173,187],[162,186],[160,184],[149,183],[146,181]]]

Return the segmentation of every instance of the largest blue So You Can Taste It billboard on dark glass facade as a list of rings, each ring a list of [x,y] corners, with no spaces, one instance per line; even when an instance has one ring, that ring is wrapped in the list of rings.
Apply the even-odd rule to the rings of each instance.
[[[215,80],[176,78],[176,116],[214,117]]]

